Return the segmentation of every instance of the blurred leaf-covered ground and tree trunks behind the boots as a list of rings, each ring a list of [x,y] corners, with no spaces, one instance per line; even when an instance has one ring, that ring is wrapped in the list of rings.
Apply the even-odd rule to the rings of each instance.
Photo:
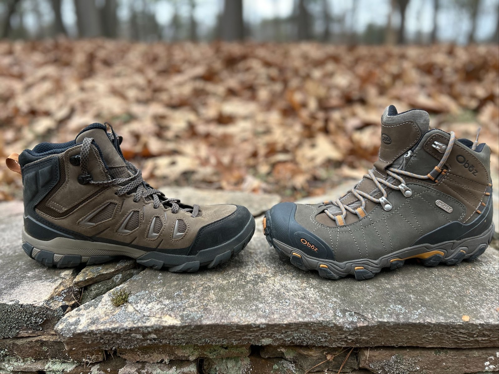
[[[0,0],[0,39],[3,158],[107,121],[155,187],[293,199],[360,179],[394,104],[481,127],[498,179],[499,0]]]

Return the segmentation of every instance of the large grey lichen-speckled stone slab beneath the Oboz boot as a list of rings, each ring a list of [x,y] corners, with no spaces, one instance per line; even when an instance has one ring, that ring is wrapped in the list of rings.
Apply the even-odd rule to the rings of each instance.
[[[69,347],[155,344],[328,347],[494,347],[499,344],[499,256],[427,268],[406,264],[368,281],[304,272],[256,230],[228,263],[197,273],[146,269],[66,314],[56,331]],[[465,322],[463,316],[469,316]],[[466,317],[465,317],[466,319]]]

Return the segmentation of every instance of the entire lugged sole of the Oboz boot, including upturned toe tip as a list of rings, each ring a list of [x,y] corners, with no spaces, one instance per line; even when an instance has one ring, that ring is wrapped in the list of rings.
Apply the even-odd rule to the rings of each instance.
[[[290,259],[291,264],[301,270],[316,270],[319,275],[327,279],[340,279],[353,275],[357,280],[366,280],[374,277],[382,268],[397,269],[408,259],[415,258],[425,266],[437,266],[441,263],[457,265],[462,261],[473,261],[482,255],[494,236],[494,223],[481,235],[461,240],[451,240],[439,244],[422,244],[405,248],[377,260],[359,259],[346,262],[337,262],[311,257],[303,251],[290,247],[272,238],[271,217],[269,211],[263,218],[263,233],[270,246],[277,252]],[[406,255],[404,255],[406,253]]]

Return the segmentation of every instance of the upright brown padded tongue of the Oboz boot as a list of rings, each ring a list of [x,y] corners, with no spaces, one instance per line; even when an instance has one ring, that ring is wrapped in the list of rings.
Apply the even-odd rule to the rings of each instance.
[[[397,113],[390,105],[381,116],[381,147],[374,166],[383,171],[398,157],[416,145],[430,129],[430,116],[424,110],[412,109]]]

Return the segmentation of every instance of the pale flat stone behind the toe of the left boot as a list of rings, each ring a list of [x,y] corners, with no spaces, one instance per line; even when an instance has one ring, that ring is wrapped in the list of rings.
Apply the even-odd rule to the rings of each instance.
[[[179,198],[183,203],[238,204],[246,206],[253,216],[260,215],[281,201],[275,193],[250,193],[242,191],[224,191],[221,189],[201,189],[193,187],[161,187],[167,197]]]

